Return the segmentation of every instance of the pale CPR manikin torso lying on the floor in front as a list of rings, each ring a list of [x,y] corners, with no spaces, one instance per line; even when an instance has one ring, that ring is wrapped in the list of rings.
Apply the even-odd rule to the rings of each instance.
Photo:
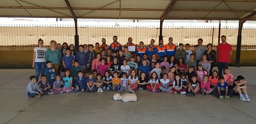
[[[116,93],[113,98],[114,100],[123,100],[124,102],[137,101],[137,96],[135,93],[125,93],[124,95]]]

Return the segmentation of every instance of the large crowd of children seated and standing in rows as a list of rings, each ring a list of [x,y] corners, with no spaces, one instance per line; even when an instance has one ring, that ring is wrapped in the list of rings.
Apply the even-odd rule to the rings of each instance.
[[[83,45],[79,46],[79,51],[83,52]],[[86,65],[79,65],[79,58],[75,60],[63,57],[64,68],[60,70],[60,75],[57,75],[54,68],[51,68],[51,61],[47,61],[45,75],[41,75],[38,84],[35,76],[30,77],[28,96],[40,98],[46,94],[72,91],[103,93],[104,90],[135,93],[135,89],[147,89],[152,92],[180,93],[192,97],[195,97],[196,93],[213,93],[220,99],[229,99],[231,95],[236,94],[240,95],[240,100],[250,101],[243,76],[239,75],[234,80],[228,68],[224,70],[225,75],[218,75],[217,70],[213,70],[212,75],[209,75],[203,65],[196,64],[194,54],[190,54],[190,59],[185,63],[182,57],[176,62],[174,55],[170,56],[170,59],[164,56],[163,61],[157,59],[156,54],[149,58],[145,53],[131,56],[127,47],[124,51],[115,50],[113,54],[111,50],[101,52],[104,54],[97,53],[92,61],[92,71],[86,71]],[[66,57],[70,56],[68,49],[66,53]]]

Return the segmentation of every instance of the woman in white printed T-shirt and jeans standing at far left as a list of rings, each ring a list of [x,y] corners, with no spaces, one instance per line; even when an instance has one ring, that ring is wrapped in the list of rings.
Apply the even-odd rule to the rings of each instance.
[[[46,65],[45,52],[46,48],[44,47],[44,41],[40,38],[38,40],[38,47],[35,47],[33,50],[33,63],[32,67],[36,70],[36,82],[38,82],[38,77],[44,75],[44,68]]]

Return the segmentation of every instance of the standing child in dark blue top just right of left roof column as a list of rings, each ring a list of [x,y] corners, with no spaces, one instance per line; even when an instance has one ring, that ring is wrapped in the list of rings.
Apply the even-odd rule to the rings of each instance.
[[[87,46],[86,46],[87,47]],[[85,70],[86,52],[84,52],[84,46],[79,45],[79,51],[76,53],[76,60],[79,62],[79,66]],[[75,62],[75,61],[74,61]],[[75,63],[74,63],[75,64]],[[72,72],[71,72],[72,73]],[[72,74],[71,74],[72,75]]]

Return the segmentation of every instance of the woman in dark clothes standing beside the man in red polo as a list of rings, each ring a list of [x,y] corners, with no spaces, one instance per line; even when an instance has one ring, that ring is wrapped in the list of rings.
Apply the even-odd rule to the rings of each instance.
[[[210,72],[209,75],[212,75],[212,68],[216,63],[216,52],[215,50],[212,49],[212,43],[207,44],[207,49],[208,50],[205,50],[204,53],[207,54],[208,63],[211,63],[211,69],[209,71]]]

